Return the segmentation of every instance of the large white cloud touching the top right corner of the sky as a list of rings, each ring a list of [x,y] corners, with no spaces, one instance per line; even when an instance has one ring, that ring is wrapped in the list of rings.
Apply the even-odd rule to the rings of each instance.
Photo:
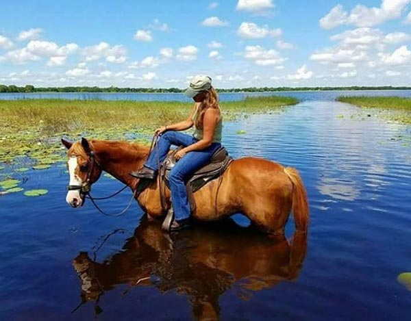
[[[343,5],[336,5],[323,18],[320,25],[323,29],[332,29],[338,25],[356,25],[357,27],[372,27],[385,21],[399,18],[411,0],[382,0],[379,8],[369,8],[365,5],[356,5],[348,14]]]

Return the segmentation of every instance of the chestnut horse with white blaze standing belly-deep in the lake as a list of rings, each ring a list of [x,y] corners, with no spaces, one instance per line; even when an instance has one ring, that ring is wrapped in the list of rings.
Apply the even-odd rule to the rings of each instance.
[[[85,193],[101,175],[108,172],[132,191],[139,179],[129,175],[142,167],[149,148],[141,144],[106,140],[62,143],[69,149],[70,183],[66,201],[72,207],[84,204]],[[164,191],[166,204],[160,198],[160,178],[136,194],[136,200],[148,218],[159,218],[171,205],[171,194]],[[306,189],[295,168],[284,167],[267,159],[244,157],[235,159],[220,179],[208,182],[193,194],[196,220],[219,220],[241,213],[262,231],[284,234],[284,227],[294,214],[297,231],[306,232],[309,213]]]

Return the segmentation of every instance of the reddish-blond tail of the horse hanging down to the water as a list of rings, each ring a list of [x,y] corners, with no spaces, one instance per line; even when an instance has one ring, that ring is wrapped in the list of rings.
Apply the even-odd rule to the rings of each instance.
[[[292,182],[292,214],[294,214],[295,228],[298,231],[306,232],[310,214],[308,211],[307,192],[303,181],[295,168],[284,168],[284,172]]]

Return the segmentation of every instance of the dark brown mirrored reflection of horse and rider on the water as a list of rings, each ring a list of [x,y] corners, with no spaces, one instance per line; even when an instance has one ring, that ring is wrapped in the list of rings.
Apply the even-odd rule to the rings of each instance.
[[[190,300],[199,320],[219,318],[219,297],[233,289],[241,299],[297,279],[307,249],[307,234],[296,232],[291,243],[239,227],[231,219],[168,235],[160,223],[143,218],[110,260],[97,263],[80,253],[73,266],[82,281],[82,303],[95,300],[116,285],[176,290]],[[96,304],[97,313],[101,307]]]

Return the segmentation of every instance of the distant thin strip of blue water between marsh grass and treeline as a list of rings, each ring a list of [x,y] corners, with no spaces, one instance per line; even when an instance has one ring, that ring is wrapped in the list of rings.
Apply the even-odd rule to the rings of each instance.
[[[399,96],[411,97],[411,90],[329,90],[329,91],[290,91],[290,92],[240,92],[221,93],[221,101],[240,101],[255,96],[291,96],[299,101],[332,101],[338,96]],[[101,99],[103,101],[191,101],[181,93],[128,93],[128,92],[33,92],[2,93],[0,99]]]

